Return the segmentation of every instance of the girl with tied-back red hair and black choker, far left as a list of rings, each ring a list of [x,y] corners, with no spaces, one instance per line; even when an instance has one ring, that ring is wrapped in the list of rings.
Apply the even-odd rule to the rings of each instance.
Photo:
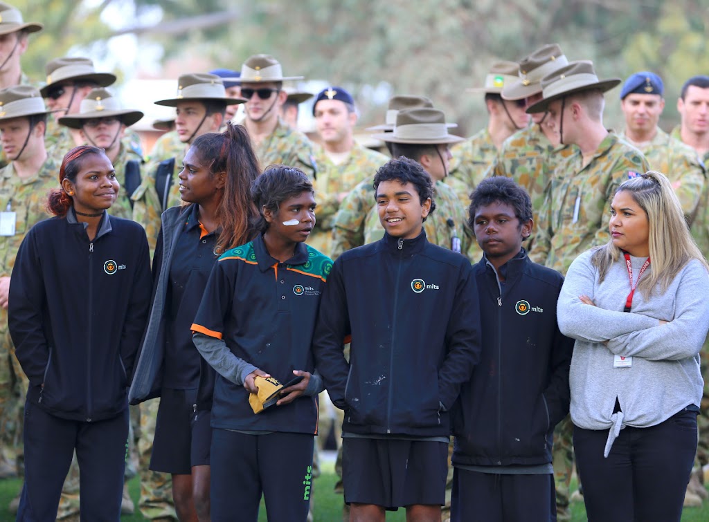
[[[10,334],[30,382],[18,520],[55,519],[74,450],[82,519],[118,520],[127,389],[150,305],[147,240],[106,212],[119,187],[103,149],[69,151],[59,180],[56,217],[30,229],[10,285]]]

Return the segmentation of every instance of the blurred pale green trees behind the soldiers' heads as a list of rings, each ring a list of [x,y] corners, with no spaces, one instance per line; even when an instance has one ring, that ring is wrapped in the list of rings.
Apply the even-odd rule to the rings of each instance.
[[[390,93],[425,94],[464,135],[486,121],[482,97],[465,89],[482,84],[494,59],[517,60],[544,43],[558,42],[569,59],[592,59],[601,77],[660,74],[663,127],[679,120],[683,81],[709,74],[709,0],[10,1],[26,21],[45,24],[23,57],[33,78],[62,55],[114,58],[119,77],[130,79],[166,75],[168,63],[177,74],[191,72],[181,64],[239,69],[266,52],[285,74],[350,89],[362,123],[383,118]],[[118,35],[133,35],[138,52],[112,46]],[[618,92],[607,96],[608,126],[621,122]]]

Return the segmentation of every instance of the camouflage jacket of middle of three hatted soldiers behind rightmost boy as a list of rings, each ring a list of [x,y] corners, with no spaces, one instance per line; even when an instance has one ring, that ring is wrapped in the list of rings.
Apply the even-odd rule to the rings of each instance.
[[[574,145],[554,147],[539,125],[531,125],[505,140],[485,177],[512,178],[532,198],[536,217],[544,204],[547,184],[554,169],[575,150]]]

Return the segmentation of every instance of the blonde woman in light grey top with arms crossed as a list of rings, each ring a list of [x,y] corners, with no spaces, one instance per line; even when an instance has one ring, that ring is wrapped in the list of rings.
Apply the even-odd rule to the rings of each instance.
[[[571,420],[589,521],[679,521],[697,445],[709,266],[669,180],[620,184],[610,241],[571,264],[559,295]]]

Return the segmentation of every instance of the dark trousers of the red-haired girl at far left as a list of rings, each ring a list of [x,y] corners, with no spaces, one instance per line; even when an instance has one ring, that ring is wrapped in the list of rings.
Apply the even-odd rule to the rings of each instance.
[[[95,422],[70,421],[25,404],[25,485],[17,520],[54,522],[74,450],[79,463],[82,521],[121,518],[128,448],[128,405],[120,415]]]

